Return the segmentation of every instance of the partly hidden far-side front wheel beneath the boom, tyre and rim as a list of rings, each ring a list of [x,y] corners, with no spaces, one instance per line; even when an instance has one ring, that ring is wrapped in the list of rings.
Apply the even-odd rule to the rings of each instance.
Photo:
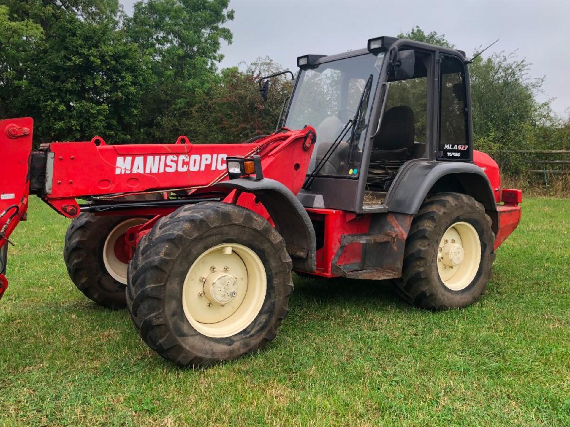
[[[129,227],[148,221],[80,213],[67,228],[63,258],[75,286],[91,301],[113,310],[127,305],[128,257],[121,244]]]

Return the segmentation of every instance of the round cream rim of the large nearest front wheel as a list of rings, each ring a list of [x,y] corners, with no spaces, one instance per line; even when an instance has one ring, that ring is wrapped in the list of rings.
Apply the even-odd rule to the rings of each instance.
[[[196,331],[211,338],[238,334],[259,314],[267,293],[263,262],[237,243],[203,252],[186,274],[182,307]]]

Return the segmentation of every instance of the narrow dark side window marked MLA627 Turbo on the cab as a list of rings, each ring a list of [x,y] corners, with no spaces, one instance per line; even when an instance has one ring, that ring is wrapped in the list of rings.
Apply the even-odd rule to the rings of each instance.
[[[449,160],[469,159],[465,68],[455,56],[442,55],[439,100],[439,151]]]

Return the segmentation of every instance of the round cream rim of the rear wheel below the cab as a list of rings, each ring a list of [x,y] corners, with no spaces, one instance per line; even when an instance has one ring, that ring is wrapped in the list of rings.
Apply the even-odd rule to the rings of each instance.
[[[446,288],[467,288],[481,265],[481,240],[473,225],[459,221],[447,228],[439,242],[437,270]]]

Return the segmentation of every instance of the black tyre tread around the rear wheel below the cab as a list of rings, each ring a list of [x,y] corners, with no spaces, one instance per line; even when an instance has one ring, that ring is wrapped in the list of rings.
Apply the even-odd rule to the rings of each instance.
[[[394,280],[396,291],[404,301],[417,307],[431,310],[446,310],[451,307],[440,301],[432,291],[430,278],[427,275],[431,260],[428,254],[430,245],[434,241],[439,243],[439,236],[435,229],[440,216],[450,210],[457,210],[461,206],[473,206],[475,211],[484,217],[487,223],[489,239],[494,241],[495,235],[491,231],[491,218],[486,214],[483,205],[471,196],[461,193],[437,193],[427,196],[420,210],[414,217],[404,251],[404,262],[402,264],[402,277]],[[437,244],[436,243],[436,244]],[[483,266],[482,281],[486,282],[491,278],[491,265],[495,260],[495,252],[488,254],[488,266]],[[485,261],[482,261],[485,262]],[[485,291],[485,286],[477,298]]]

